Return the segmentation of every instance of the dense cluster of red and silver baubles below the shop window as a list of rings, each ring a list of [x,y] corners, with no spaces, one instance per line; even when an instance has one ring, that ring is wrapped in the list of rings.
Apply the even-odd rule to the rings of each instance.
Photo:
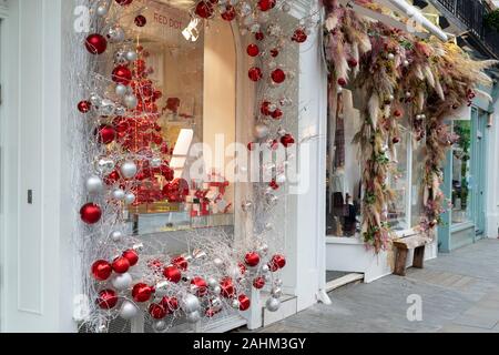
[[[285,267],[283,255],[273,255],[267,263],[263,262],[267,253],[265,245],[258,252],[248,252],[244,261],[231,268],[221,258],[213,258],[211,263],[217,267],[223,277],[200,276],[190,271],[191,263],[206,262],[204,252],[194,255],[181,255],[166,260],[153,258],[146,265],[154,274],[154,284],[145,282],[134,283],[131,268],[139,264],[139,253],[142,245],[124,251],[113,261],[99,260],[91,266],[91,275],[100,285],[95,304],[104,311],[116,310],[123,320],[138,316],[140,310],[145,310],[159,331],[165,327],[167,316],[184,316],[187,322],[196,323],[203,315],[213,317],[222,312],[224,304],[241,312],[248,311],[251,300],[245,294],[245,283],[262,290],[273,281],[271,297],[266,307],[271,312],[279,308],[283,292],[281,280],[273,280],[269,273]],[[193,270],[197,270],[193,267]],[[218,273],[221,274],[221,273]]]

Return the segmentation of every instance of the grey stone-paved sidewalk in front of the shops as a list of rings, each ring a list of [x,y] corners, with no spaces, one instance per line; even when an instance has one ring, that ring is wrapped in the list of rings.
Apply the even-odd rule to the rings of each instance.
[[[499,240],[440,254],[407,277],[387,276],[329,294],[318,304],[261,332],[492,332],[499,333]],[[422,298],[422,321],[407,320],[409,295]]]

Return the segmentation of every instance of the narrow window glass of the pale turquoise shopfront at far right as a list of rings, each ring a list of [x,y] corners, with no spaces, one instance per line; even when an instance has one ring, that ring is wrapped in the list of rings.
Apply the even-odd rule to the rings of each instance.
[[[455,121],[459,141],[452,146],[452,224],[470,221],[471,121]]]

